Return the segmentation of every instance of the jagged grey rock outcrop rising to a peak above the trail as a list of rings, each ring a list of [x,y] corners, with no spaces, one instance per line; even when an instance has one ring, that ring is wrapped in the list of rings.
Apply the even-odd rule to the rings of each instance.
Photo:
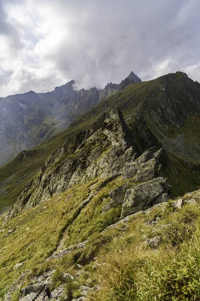
[[[12,206],[9,217],[66,191],[75,184],[84,184],[97,177],[108,177],[107,180],[105,179],[106,184],[109,179],[121,175],[124,179],[132,179],[134,181],[132,186],[156,178],[160,170],[159,159],[162,149],[156,152],[156,148],[152,147],[137,157],[134,148],[133,133],[126,125],[118,107],[108,110],[92,125],[91,131],[79,132],[53,151],[38,175],[26,185],[17,202]],[[126,192],[130,185],[124,184],[110,192],[111,201],[104,209],[108,210],[123,203],[125,193],[125,203],[128,199],[129,205],[123,204],[122,215],[147,208],[158,202],[158,199],[157,201],[155,199],[161,194],[168,195],[167,189],[162,189],[164,185],[167,186],[165,182],[160,179],[153,180],[148,184],[142,184],[143,186],[137,186],[137,189],[133,188],[135,191],[131,194]],[[141,204],[137,204],[140,199],[139,194],[142,194],[145,189],[146,197],[142,195]],[[156,192],[152,194],[151,189]],[[133,203],[130,202],[132,197],[135,209],[129,208],[132,208]],[[160,201],[163,201],[163,197]]]

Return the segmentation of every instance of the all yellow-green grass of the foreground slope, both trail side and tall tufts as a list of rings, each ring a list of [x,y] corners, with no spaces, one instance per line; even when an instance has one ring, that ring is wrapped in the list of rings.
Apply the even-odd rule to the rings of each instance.
[[[4,233],[14,230],[6,237],[0,234],[0,297],[25,269],[30,271],[23,285],[31,283],[33,276],[55,269],[53,289],[65,283],[62,271],[74,275],[80,264],[82,273],[73,283],[73,296],[79,294],[78,287],[88,283],[89,277],[90,286],[101,285],[100,292],[91,293],[89,300],[197,300],[200,293],[199,203],[185,205],[174,212],[169,201],[164,210],[153,208],[147,215],[139,214],[130,219],[128,225],[121,223],[101,234],[106,226],[118,220],[120,208],[99,213],[109,201],[108,191],[121,180],[115,179],[101,189],[77,218],[73,218],[78,204],[88,197],[89,188],[95,190],[99,185],[94,182],[73,187],[6,223],[0,219]],[[185,195],[184,199],[191,197],[199,202],[199,193]],[[156,219],[155,226],[148,223]],[[167,226],[162,228],[162,225]],[[66,227],[65,246],[87,238],[88,243],[59,260],[44,262]],[[155,236],[161,237],[156,251],[145,244],[146,239]],[[20,268],[13,269],[22,261],[25,263]],[[16,289],[13,293],[12,301],[18,300],[19,291]]]

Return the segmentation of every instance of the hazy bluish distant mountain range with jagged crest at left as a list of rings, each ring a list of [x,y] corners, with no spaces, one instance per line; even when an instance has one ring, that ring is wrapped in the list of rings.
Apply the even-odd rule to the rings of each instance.
[[[71,80],[52,92],[29,91],[0,98],[0,165],[22,149],[32,148],[63,130],[99,101],[139,81],[130,72],[120,84],[109,83],[102,90],[94,87],[76,91],[75,82]]]

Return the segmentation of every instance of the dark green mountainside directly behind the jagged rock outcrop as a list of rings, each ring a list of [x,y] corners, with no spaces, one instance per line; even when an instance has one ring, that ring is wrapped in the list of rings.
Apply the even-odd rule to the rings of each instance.
[[[180,72],[129,85],[78,117],[70,128],[38,147],[19,154],[12,162],[1,167],[1,208],[16,201],[24,185],[32,178],[32,173],[39,171],[54,148],[63,144],[72,134],[91,129],[91,124],[102,111],[115,105],[122,110],[126,123],[133,131],[138,155],[154,145],[157,148],[163,146],[166,150],[167,157],[162,159],[163,168],[173,195],[196,189],[200,174],[199,159],[193,154],[198,152],[200,137],[199,130],[195,130],[198,129],[198,122],[194,125],[193,118],[199,120],[199,99],[199,84]],[[178,105],[180,108],[176,109]],[[196,137],[190,134],[193,130]],[[177,142],[181,131],[184,131],[184,136]],[[182,149],[186,149],[184,153]],[[23,178],[24,175],[26,177]]]

